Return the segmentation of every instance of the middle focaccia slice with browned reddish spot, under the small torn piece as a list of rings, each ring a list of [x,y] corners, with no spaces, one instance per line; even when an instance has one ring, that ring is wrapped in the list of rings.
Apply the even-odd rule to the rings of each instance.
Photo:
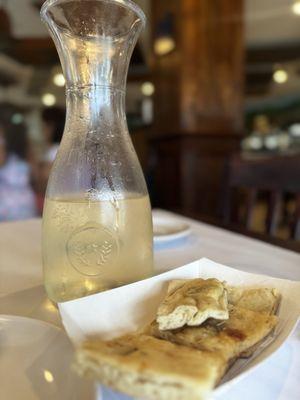
[[[148,334],[180,345],[220,354],[228,363],[250,356],[275,328],[278,318],[246,308],[230,306],[229,319],[207,321],[199,327],[160,330],[156,322],[146,328]]]

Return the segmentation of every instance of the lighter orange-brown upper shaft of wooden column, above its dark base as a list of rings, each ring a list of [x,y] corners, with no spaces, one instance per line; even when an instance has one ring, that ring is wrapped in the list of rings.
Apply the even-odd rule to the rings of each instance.
[[[176,49],[154,57],[160,133],[240,132],[243,126],[243,0],[154,0],[157,24],[174,16]],[[172,117],[172,120],[170,120]],[[162,125],[162,123],[165,123]]]

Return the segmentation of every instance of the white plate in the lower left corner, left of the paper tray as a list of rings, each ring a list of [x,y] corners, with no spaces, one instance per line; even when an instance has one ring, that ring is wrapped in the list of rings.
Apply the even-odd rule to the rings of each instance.
[[[72,372],[65,333],[30,318],[0,315],[0,400],[92,400],[95,390]]]

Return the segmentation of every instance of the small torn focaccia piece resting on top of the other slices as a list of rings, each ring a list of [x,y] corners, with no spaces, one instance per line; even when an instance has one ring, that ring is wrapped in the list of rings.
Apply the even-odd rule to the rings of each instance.
[[[177,280],[158,308],[160,330],[198,326],[208,318],[228,319],[227,289],[217,279]]]

